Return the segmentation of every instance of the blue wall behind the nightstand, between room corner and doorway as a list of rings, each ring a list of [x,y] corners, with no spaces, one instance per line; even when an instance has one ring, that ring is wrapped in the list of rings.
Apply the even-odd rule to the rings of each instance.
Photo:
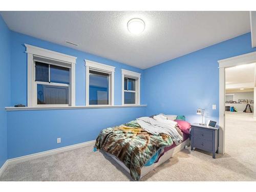
[[[144,70],[146,115],[179,114],[194,123],[202,120],[197,109],[204,108],[206,121],[218,121],[217,61],[253,51],[247,33]],[[217,104],[217,110],[212,110],[212,104]]]

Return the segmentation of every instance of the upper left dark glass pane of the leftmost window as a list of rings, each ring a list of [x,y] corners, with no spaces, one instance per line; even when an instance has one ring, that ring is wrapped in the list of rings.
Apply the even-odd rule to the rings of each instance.
[[[35,80],[49,82],[49,65],[42,62],[35,62]]]

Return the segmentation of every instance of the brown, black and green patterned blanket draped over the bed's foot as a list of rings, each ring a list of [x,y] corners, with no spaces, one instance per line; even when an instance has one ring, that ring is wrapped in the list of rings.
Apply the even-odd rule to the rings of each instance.
[[[114,155],[130,169],[133,180],[139,180],[141,167],[158,150],[173,144],[169,135],[152,135],[143,129],[137,121],[110,127],[100,132],[95,148]]]

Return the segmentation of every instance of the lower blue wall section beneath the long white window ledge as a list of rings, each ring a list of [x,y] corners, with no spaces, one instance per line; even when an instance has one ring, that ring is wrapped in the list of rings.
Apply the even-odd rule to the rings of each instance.
[[[145,109],[8,112],[8,159],[94,140],[103,128],[143,116]],[[61,137],[59,144],[58,137]]]

